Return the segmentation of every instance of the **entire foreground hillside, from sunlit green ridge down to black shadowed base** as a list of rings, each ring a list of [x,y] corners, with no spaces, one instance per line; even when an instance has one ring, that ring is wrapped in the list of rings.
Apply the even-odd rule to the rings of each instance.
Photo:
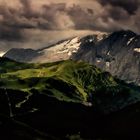
[[[18,125],[28,136],[69,139],[80,134],[85,139],[114,139],[123,134],[129,137],[130,131],[139,128],[137,120],[137,127],[125,129],[139,114],[139,88],[88,63],[26,64],[1,58],[0,77],[0,114],[28,124],[29,132]],[[17,128],[9,123],[15,134]]]

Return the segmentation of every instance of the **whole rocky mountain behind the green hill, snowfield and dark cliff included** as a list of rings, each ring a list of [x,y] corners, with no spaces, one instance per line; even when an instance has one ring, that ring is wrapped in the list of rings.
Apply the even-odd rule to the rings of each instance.
[[[131,31],[63,40],[40,50],[12,49],[4,57],[21,62],[82,60],[127,82],[140,84],[140,35]]]

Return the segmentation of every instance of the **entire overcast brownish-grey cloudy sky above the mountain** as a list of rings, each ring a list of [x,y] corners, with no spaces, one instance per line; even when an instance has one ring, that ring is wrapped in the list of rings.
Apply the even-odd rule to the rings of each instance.
[[[140,33],[140,0],[0,0],[0,52],[121,29]]]

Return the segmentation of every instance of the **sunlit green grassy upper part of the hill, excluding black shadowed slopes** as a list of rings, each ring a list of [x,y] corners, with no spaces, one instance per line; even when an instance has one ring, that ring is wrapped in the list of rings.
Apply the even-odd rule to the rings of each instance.
[[[28,92],[32,88],[39,91],[48,89],[54,96],[64,100],[75,97],[75,100],[86,101],[88,94],[95,92],[100,85],[117,86],[111,75],[105,75],[83,62],[68,60],[52,64],[23,64],[6,60],[0,66],[2,68],[5,68],[0,74],[3,87]]]

